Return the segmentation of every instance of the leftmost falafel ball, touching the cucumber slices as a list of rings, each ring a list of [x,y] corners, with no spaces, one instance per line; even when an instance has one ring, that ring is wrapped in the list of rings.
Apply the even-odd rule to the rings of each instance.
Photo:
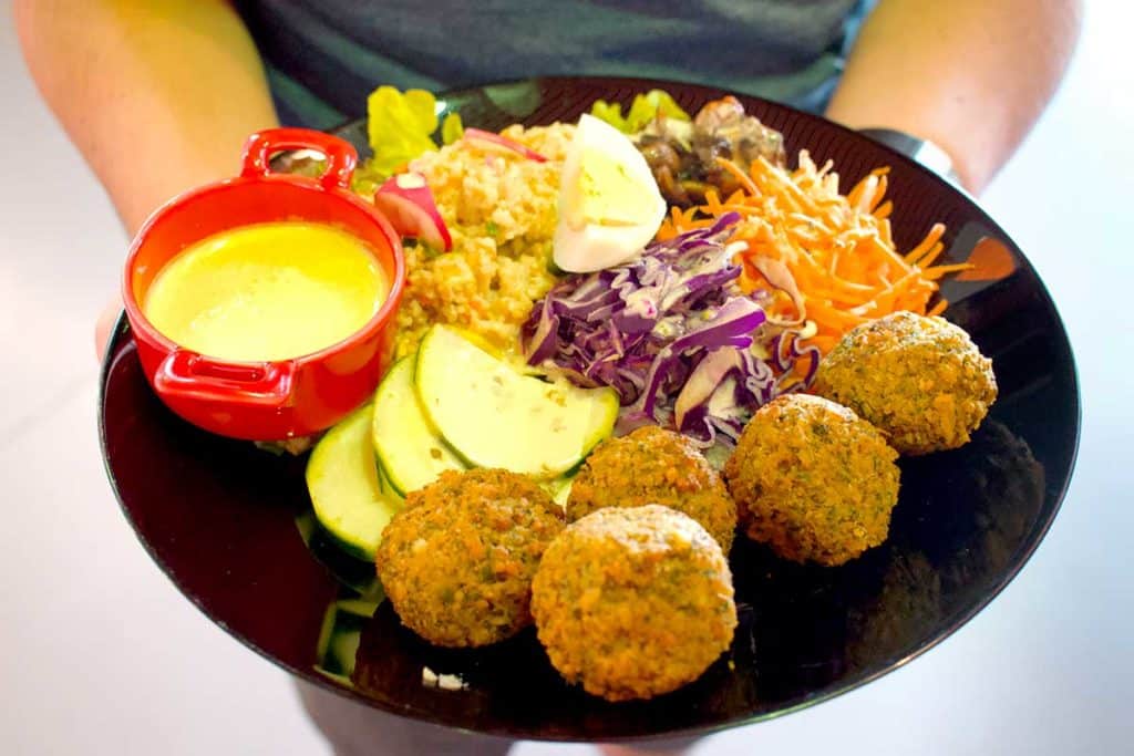
[[[485,646],[531,623],[532,576],[564,528],[534,482],[446,472],[382,530],[378,575],[401,623],[438,646]]]

